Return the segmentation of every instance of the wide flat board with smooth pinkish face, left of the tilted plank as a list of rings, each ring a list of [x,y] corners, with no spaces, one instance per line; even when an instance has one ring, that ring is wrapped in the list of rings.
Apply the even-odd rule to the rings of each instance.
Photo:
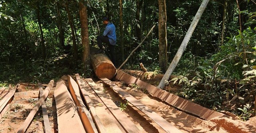
[[[57,109],[59,133],[86,133],[76,110],[76,105],[68,92],[65,82],[57,82],[54,97]]]

